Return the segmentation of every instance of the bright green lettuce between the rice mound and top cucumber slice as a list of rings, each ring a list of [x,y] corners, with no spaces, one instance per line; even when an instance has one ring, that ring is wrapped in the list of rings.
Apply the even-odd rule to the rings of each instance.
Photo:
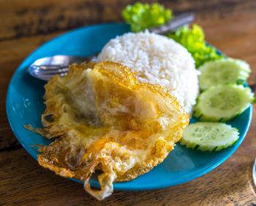
[[[206,44],[203,28],[199,25],[194,24],[192,28],[184,26],[174,33],[167,34],[167,36],[187,48],[195,60],[196,68],[207,61],[223,58],[216,49]]]

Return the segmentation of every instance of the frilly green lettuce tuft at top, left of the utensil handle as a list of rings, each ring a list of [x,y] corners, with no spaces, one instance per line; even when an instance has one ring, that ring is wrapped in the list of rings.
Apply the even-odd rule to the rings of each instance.
[[[126,23],[131,25],[133,32],[144,31],[157,25],[162,25],[173,18],[172,11],[165,9],[162,5],[141,4],[137,2],[128,5],[122,12]]]

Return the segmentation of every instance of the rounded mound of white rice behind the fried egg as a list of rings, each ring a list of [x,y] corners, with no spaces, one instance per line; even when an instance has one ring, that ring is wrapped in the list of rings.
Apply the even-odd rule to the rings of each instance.
[[[199,90],[199,72],[190,53],[176,41],[147,31],[126,33],[111,39],[98,60],[122,63],[137,72],[141,82],[167,87],[191,114]]]

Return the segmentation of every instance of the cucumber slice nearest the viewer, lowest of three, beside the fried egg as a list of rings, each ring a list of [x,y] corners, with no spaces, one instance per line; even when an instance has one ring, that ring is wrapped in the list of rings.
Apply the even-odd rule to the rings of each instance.
[[[238,129],[228,124],[197,122],[186,127],[181,138],[181,145],[200,151],[220,151],[233,146],[238,138]]]

